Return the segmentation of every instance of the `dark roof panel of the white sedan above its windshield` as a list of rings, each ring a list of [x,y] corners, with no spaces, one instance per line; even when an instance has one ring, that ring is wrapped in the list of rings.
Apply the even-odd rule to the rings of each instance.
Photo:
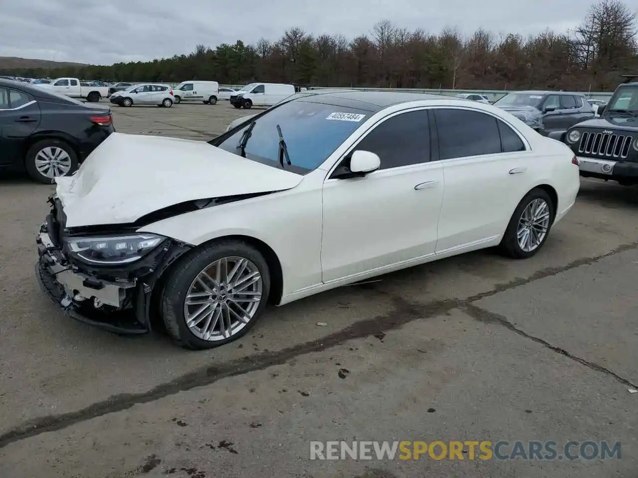
[[[305,91],[303,92],[305,93]],[[341,90],[330,92],[318,92],[298,98],[297,101],[308,101],[308,103],[325,103],[327,105],[342,106],[344,108],[356,108],[369,112],[378,112],[388,106],[408,101],[419,101],[420,99],[446,99],[453,101],[463,101],[454,96],[442,96],[438,94],[412,93],[400,91],[360,91]]]

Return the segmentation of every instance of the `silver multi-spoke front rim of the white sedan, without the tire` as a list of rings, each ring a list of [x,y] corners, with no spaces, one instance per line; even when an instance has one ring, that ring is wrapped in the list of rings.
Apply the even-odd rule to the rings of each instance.
[[[232,337],[253,319],[262,301],[263,280],[245,257],[222,257],[207,265],[188,287],[186,326],[207,341]]]

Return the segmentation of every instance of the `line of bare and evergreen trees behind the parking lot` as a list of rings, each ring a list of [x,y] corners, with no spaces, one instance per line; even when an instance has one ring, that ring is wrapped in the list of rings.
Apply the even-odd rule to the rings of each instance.
[[[635,20],[627,4],[602,0],[567,33],[546,30],[524,38],[479,29],[463,36],[457,29],[408,31],[382,20],[369,35],[352,40],[341,34],[313,36],[295,27],[277,41],[262,38],[255,45],[239,40],[216,48],[197,45],[189,55],[147,62],[12,69],[10,74],[130,82],[610,91],[621,75],[638,74]]]

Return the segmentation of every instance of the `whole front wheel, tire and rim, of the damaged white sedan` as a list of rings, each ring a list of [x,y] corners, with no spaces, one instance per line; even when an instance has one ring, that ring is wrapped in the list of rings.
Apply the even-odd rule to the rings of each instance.
[[[265,259],[247,243],[225,240],[195,249],[175,264],[161,291],[168,334],[186,349],[228,344],[255,325],[270,284]]]

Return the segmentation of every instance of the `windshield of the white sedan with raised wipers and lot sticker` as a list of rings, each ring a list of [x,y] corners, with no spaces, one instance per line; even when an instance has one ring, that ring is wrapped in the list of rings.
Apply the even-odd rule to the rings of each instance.
[[[306,173],[315,170],[371,114],[366,110],[312,103],[295,99],[272,108],[255,120],[246,142],[246,157],[281,168],[279,133],[286,142],[291,165],[285,169]],[[251,122],[218,143],[211,144],[241,156],[239,144]]]

